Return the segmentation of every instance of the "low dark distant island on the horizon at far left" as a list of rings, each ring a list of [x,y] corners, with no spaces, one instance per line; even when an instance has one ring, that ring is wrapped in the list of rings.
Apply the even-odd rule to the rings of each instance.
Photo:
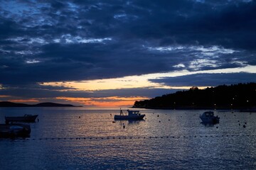
[[[0,101],[0,107],[78,107],[71,104],[60,104],[60,103],[38,103],[38,104],[24,104],[24,103],[13,103],[9,101]]]

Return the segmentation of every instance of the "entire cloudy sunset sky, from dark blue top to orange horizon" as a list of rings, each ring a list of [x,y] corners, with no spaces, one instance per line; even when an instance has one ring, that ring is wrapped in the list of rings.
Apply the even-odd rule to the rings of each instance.
[[[0,0],[0,101],[129,107],[256,81],[253,0]]]

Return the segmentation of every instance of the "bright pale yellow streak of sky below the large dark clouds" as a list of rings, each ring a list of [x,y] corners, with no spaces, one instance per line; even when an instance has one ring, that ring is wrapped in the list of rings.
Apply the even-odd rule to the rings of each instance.
[[[140,76],[120,77],[115,79],[97,79],[88,81],[65,81],[65,82],[43,82],[42,86],[63,86],[66,88],[73,88],[74,91],[98,91],[108,89],[132,89],[132,88],[149,88],[149,89],[190,89],[191,86],[166,86],[164,84],[151,82],[150,79],[163,79],[164,77],[180,77],[191,74],[218,74],[218,73],[237,73],[247,72],[256,73],[256,66],[247,65],[246,67],[229,68],[229,69],[211,69],[205,71],[189,72],[184,69],[179,72],[166,72],[155,74],[144,74]],[[207,86],[198,87],[205,89]],[[68,90],[73,90],[68,89]],[[62,90],[62,91],[68,91]]]

